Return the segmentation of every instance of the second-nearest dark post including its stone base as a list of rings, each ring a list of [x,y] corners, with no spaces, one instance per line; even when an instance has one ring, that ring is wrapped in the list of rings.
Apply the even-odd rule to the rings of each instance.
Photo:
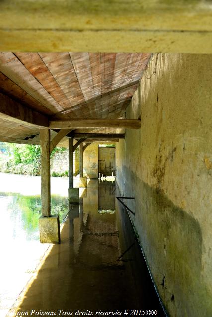
[[[73,187],[73,138],[69,138],[69,203],[79,203],[79,189]]]

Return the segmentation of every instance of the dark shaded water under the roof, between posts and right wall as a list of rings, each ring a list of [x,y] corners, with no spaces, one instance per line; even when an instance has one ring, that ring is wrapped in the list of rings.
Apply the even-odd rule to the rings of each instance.
[[[115,183],[90,180],[82,196],[18,310],[165,316]]]

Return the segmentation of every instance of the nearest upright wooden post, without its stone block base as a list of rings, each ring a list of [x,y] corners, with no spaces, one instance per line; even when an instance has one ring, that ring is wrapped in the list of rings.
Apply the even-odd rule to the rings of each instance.
[[[40,130],[42,216],[50,217],[50,129]]]

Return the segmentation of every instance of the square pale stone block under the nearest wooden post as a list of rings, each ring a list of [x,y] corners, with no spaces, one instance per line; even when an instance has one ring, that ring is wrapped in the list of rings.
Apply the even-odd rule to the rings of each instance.
[[[39,231],[41,243],[60,243],[59,216],[39,218]]]

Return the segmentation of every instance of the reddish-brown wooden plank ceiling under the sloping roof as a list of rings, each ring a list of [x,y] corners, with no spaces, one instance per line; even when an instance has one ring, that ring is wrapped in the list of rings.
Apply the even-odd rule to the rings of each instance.
[[[122,118],[150,55],[1,52],[0,93],[49,120]],[[0,141],[39,144],[39,129],[0,119]]]

